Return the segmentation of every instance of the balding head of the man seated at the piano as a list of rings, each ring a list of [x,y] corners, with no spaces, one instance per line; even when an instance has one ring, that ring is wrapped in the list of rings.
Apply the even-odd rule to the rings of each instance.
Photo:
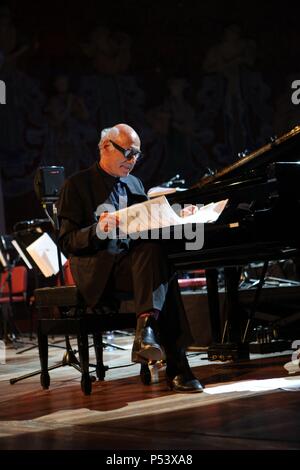
[[[136,131],[127,124],[117,124],[109,129],[104,129],[99,142],[100,166],[112,176],[127,176],[133,169],[136,159],[133,156],[129,160],[124,157],[122,149],[140,150],[141,141]]]

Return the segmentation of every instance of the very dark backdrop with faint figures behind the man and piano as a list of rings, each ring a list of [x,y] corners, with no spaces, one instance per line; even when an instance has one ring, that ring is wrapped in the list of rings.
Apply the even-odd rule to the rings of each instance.
[[[267,1],[1,3],[2,230],[43,215],[39,166],[85,168],[116,123],[141,136],[146,189],[190,186],[299,124],[298,21]]]

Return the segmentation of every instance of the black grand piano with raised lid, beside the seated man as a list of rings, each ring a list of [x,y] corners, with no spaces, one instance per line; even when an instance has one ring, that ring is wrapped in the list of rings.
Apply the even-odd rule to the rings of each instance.
[[[239,360],[249,356],[246,327],[239,305],[241,267],[264,262],[254,299],[257,303],[270,260],[299,256],[300,233],[300,126],[270,139],[186,191],[168,196],[169,202],[228,203],[217,222],[205,224],[204,246],[186,251],[184,243],[170,244],[169,257],[179,270],[206,270],[213,344],[209,358]],[[218,271],[224,268],[227,320],[221,331]]]

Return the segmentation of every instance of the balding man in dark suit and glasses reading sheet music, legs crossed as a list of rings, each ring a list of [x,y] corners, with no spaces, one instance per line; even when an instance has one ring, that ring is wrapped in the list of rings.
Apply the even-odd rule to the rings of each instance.
[[[199,392],[185,355],[192,338],[178,283],[160,242],[109,236],[119,224],[115,210],[147,199],[140,180],[130,175],[140,145],[126,124],[102,132],[99,162],[66,180],[61,191],[60,245],[89,306],[116,292],[132,293],[137,314],[132,360],[160,360],[164,352],[169,387]]]

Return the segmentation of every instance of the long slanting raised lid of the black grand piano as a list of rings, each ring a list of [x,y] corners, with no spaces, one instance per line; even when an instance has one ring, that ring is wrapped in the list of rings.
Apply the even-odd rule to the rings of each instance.
[[[300,126],[296,126],[286,134],[283,134],[281,137],[271,139],[268,144],[263,145],[246,157],[243,157],[233,164],[226,166],[222,170],[219,170],[214,175],[202,178],[198,183],[194,184],[191,189],[200,189],[210,185],[211,183],[215,183],[218,180],[224,180],[231,176],[237,176],[246,171],[275,162],[278,159],[282,159],[283,154],[290,150],[299,140]],[[288,155],[288,157],[292,159],[290,155]],[[299,154],[297,154],[295,158],[297,160],[300,159],[300,145]]]

